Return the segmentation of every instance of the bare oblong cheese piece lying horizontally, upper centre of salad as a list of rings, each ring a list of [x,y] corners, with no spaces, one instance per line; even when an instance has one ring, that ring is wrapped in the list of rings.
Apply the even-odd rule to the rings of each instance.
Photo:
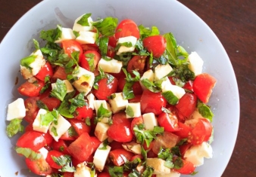
[[[111,59],[109,61],[101,59],[98,61],[98,69],[104,72],[119,73],[122,69],[123,63],[118,60]]]

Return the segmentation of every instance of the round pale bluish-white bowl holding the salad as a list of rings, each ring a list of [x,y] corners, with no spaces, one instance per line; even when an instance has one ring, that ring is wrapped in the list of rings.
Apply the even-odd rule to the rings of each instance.
[[[220,177],[233,152],[239,127],[236,76],[229,57],[214,32],[192,11],[175,0],[45,0],[17,21],[0,45],[0,176],[34,176],[28,172],[23,158],[18,157],[14,151],[18,136],[8,139],[5,134],[8,124],[5,121],[6,106],[19,97],[17,87],[21,83],[14,83],[20,77],[20,59],[31,53],[31,39],[39,39],[40,30],[55,28],[56,24],[72,26],[73,20],[84,13],[92,13],[93,19],[112,16],[119,20],[130,18],[144,26],[158,26],[162,34],[173,32],[178,44],[188,52],[198,52],[204,60],[204,72],[217,78],[217,85],[209,102],[215,114],[212,143],[214,157],[204,160],[204,165],[196,169],[198,174],[195,176]]]

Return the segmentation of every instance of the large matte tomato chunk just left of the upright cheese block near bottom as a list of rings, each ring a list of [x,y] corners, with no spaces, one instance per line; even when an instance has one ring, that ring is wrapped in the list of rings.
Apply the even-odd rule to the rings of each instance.
[[[93,151],[93,145],[88,133],[81,134],[67,148],[70,154],[80,161],[85,161]]]

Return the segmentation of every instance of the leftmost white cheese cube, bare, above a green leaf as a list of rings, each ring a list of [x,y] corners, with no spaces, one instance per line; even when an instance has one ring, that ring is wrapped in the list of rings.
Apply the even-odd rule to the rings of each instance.
[[[24,105],[24,100],[22,98],[16,99],[8,105],[7,111],[7,121],[11,121],[15,118],[22,119],[26,116],[26,108]]]

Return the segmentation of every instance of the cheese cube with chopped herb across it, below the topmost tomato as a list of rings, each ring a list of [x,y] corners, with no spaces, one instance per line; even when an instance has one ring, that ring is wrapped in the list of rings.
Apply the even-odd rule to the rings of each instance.
[[[133,52],[135,50],[135,44],[136,44],[137,38],[134,36],[126,36],[123,38],[119,38],[117,41],[117,44],[122,44],[126,42],[132,43],[132,47],[126,47],[124,45],[121,45],[120,48],[117,51],[117,55],[120,55],[121,53],[126,53],[126,52]]]

